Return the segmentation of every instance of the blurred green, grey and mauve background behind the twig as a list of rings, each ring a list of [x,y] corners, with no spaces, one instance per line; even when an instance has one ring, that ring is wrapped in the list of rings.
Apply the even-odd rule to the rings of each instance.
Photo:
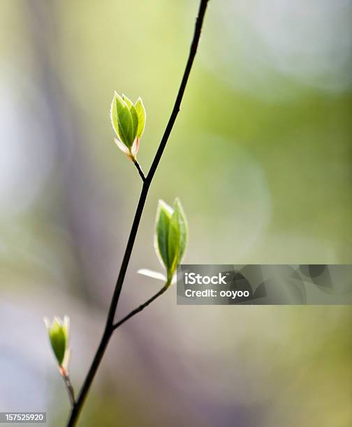
[[[1,0],[0,410],[69,410],[43,316],[71,317],[78,390],[140,192],[109,121],[142,96],[148,170],[197,0]],[[189,219],[185,262],[351,263],[352,2],[212,0],[156,172],[117,317],[159,289],[159,198]],[[177,306],[112,339],[81,426],[348,427],[349,306]]]

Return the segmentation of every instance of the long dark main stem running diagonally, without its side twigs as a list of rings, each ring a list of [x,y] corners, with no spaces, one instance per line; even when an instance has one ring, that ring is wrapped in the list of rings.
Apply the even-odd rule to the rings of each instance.
[[[197,47],[200,39],[200,33],[203,26],[203,20],[205,15],[205,10],[207,8],[207,3],[209,0],[200,0],[200,6],[198,10],[198,17],[196,19],[196,27],[194,29],[194,35],[193,40],[191,43],[191,48],[189,51],[189,58],[186,63],[186,68],[184,69],[184,75],[182,77],[181,84],[179,86],[179,91],[177,93],[177,98],[175,100],[175,105],[173,107],[173,111],[171,112],[170,119],[168,121],[168,124],[166,126],[166,130],[163,134],[163,137],[161,138],[161,142],[159,144],[159,148],[156,151],[156,155],[154,157],[154,160],[152,162],[152,166],[150,167],[150,170],[147,174],[147,177],[145,177],[145,180],[143,181],[142,191],[140,193],[140,199],[138,201],[137,209],[135,211],[135,217],[133,219],[131,232],[129,234],[129,240],[127,241],[126,250],[124,253],[124,258],[122,260],[122,264],[119,270],[119,276],[117,278],[117,282],[115,285],[115,290],[112,295],[112,299],[110,302],[110,308],[108,312],[108,317],[106,319],[105,329],[103,332],[103,336],[101,337],[101,342],[99,343],[98,349],[96,350],[96,354],[94,355],[94,359],[91,363],[91,366],[89,368],[89,371],[87,373],[87,376],[85,378],[85,381],[83,382],[82,389],[80,390],[80,394],[78,396],[78,400],[73,405],[73,409],[71,411],[70,418],[68,420],[68,427],[75,426],[78,417],[80,415],[80,411],[82,410],[82,406],[85,403],[85,398],[87,397],[88,391],[91,387],[91,383],[94,380],[94,377],[96,375],[96,371],[98,370],[99,365],[101,364],[101,359],[103,359],[103,355],[105,353],[106,347],[108,347],[108,343],[110,341],[110,338],[116,329],[114,327],[114,317],[117,309],[117,304],[119,302],[119,296],[121,294],[122,285],[124,284],[124,278],[126,275],[127,267],[129,266],[129,260],[131,257],[131,253],[133,250],[133,244],[135,241],[135,236],[138,232],[138,226],[140,223],[140,218],[142,216],[143,208],[145,206],[145,200],[147,199],[147,194],[149,190],[149,186],[152,183],[152,179],[154,177],[154,174],[156,172],[156,168],[159,165],[161,156],[163,154],[163,151],[166,147],[166,143],[168,142],[168,137],[170,136],[171,130],[173,129],[173,125],[175,123],[177,114],[179,112],[179,107],[181,105],[182,97],[184,95],[184,90],[186,89],[186,84],[189,79],[189,73],[191,72],[192,64],[194,61],[194,58],[196,57]],[[154,301],[154,300],[153,300]],[[115,325],[116,326],[116,325]]]

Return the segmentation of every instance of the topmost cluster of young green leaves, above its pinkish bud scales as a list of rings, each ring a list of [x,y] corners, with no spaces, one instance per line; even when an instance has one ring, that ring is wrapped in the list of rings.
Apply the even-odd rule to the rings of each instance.
[[[145,129],[145,107],[142,99],[135,104],[126,95],[119,96],[117,92],[112,99],[110,117],[112,127],[119,141],[131,151],[136,138],[140,140]]]

